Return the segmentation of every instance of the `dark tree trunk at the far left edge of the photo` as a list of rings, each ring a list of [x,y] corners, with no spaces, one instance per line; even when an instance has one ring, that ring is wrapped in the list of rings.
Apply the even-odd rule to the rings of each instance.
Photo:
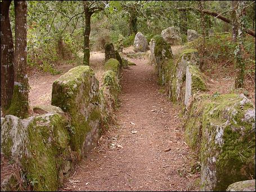
[[[14,41],[9,18],[11,1],[1,2],[1,109],[10,107],[14,91]]]

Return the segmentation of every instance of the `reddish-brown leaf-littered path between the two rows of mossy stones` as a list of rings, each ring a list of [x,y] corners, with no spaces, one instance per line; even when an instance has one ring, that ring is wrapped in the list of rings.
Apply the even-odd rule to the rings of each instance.
[[[159,92],[154,66],[130,60],[136,65],[123,70],[116,128],[101,137],[61,191],[198,190],[197,176],[189,174],[179,106]]]

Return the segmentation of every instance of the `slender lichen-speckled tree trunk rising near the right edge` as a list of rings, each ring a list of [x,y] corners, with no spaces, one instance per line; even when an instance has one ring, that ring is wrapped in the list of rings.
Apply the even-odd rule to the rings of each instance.
[[[238,24],[238,33],[236,37],[236,49],[235,49],[235,67],[236,67],[236,82],[235,88],[241,88],[244,86],[244,37],[245,37],[245,24],[244,24],[244,7],[245,2],[239,1],[236,10],[236,19]]]

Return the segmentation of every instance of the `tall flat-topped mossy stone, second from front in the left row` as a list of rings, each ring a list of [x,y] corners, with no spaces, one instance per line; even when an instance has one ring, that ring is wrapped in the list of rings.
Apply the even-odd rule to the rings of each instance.
[[[118,60],[114,60],[119,65]],[[98,81],[89,66],[70,69],[53,82],[52,105],[70,114],[71,149],[78,152],[79,157],[96,145],[101,118],[98,104]],[[91,132],[95,134],[88,139]]]

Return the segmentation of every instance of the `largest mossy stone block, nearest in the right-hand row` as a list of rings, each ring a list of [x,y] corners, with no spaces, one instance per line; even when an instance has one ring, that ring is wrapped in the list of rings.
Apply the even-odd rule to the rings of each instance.
[[[226,190],[255,177],[255,109],[244,95],[195,96],[185,138],[199,150],[201,190]]]

